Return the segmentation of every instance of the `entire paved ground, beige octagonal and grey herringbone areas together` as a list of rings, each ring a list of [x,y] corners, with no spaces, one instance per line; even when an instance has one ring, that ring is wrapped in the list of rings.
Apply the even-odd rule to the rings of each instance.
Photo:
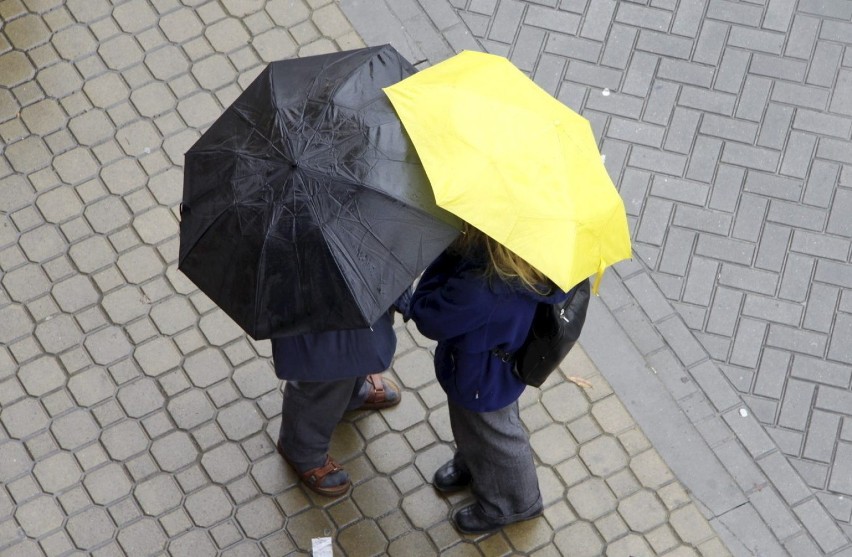
[[[852,555],[852,0],[0,0],[0,555]],[[636,259],[528,389],[544,516],[449,522],[432,343],[340,499],[176,270],[184,151],[271,60],[510,57],[589,118]]]

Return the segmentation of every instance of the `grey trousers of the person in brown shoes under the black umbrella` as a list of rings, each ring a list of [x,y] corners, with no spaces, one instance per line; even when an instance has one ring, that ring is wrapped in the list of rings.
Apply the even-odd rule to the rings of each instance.
[[[299,471],[325,464],[331,434],[343,414],[369,394],[366,377],[337,381],[288,381],[284,385],[279,443]],[[363,391],[363,392],[362,392]]]

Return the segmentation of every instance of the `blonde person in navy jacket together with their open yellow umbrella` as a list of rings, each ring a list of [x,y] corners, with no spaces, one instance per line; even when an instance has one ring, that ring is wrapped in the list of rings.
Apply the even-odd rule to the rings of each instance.
[[[518,398],[526,385],[499,352],[520,348],[539,303],[630,257],[624,205],[587,120],[499,56],[461,54],[385,88],[431,182],[463,234],[423,273],[411,300],[438,341],[435,372],[456,441],[433,478],[471,487],[455,527],[490,532],[543,510]]]

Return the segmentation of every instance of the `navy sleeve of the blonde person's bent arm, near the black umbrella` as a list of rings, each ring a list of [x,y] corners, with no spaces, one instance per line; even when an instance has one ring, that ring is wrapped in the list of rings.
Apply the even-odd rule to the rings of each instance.
[[[470,272],[447,275],[439,271],[437,266],[430,266],[412,297],[411,318],[417,329],[441,341],[485,325],[492,300],[484,281]]]

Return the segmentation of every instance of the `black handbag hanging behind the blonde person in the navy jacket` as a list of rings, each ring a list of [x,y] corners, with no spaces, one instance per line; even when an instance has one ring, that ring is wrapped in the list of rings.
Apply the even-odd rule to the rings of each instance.
[[[586,279],[563,303],[539,303],[521,348],[514,354],[495,349],[494,354],[505,362],[514,362],[512,371],[521,381],[541,386],[580,338],[590,298],[589,279]]]

